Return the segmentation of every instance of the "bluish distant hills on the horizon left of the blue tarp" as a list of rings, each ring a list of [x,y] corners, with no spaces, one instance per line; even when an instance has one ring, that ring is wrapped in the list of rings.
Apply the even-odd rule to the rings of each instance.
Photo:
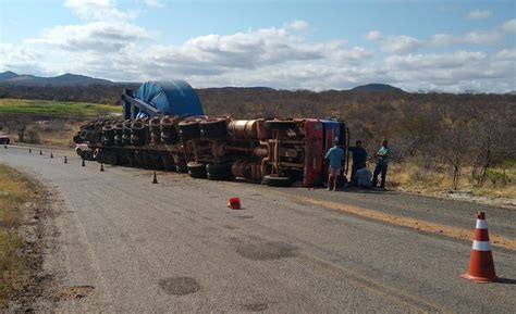
[[[41,77],[35,75],[16,74],[8,71],[0,73],[0,84],[24,85],[24,86],[88,86],[88,85],[114,85],[115,83],[76,74],[63,74],[53,77]]]

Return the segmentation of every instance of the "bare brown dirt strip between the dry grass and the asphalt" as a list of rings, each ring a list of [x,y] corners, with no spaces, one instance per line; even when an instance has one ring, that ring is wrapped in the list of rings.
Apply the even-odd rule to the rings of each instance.
[[[60,254],[60,231],[57,219],[66,211],[66,206],[57,191],[41,183],[34,175],[21,173],[35,189],[36,197],[23,203],[19,233],[22,236],[23,256],[29,261],[29,279],[20,291],[10,296],[8,311],[38,312],[52,309],[51,304],[69,300],[79,300],[95,288],[90,286],[63,286],[52,264],[52,254]]]

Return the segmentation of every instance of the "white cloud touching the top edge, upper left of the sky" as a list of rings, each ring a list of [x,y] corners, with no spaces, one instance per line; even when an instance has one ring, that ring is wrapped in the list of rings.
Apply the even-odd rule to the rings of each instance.
[[[132,20],[134,13],[116,9],[112,0],[64,0],[64,7],[72,9],[86,21]]]

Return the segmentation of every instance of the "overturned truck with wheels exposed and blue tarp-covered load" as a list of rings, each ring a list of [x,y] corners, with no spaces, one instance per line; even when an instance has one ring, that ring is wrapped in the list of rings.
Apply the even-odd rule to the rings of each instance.
[[[206,116],[185,81],[125,89],[122,103],[123,118],[91,122],[74,137],[83,159],[212,180],[311,187],[328,176],[324,153],[333,141],[348,146],[341,121]]]

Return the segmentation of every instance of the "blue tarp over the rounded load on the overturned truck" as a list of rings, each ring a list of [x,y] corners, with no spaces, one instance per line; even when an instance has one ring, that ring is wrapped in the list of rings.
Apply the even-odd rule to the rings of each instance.
[[[163,114],[204,115],[197,93],[184,80],[146,81],[139,86],[135,97]],[[138,112],[137,117],[142,116],[147,116],[147,113]]]

